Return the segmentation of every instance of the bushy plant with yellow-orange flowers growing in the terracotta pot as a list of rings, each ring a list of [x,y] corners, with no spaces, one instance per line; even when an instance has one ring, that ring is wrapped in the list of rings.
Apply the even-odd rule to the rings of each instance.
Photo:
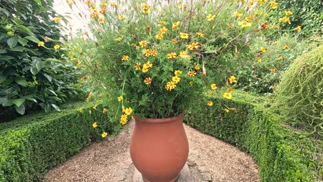
[[[215,77],[224,71],[219,63],[248,49],[256,36],[252,34],[266,30],[264,11],[273,6],[266,0],[85,4],[96,45],[89,54],[96,59],[84,59],[84,65],[108,93],[108,110],[122,124],[133,112],[150,118],[174,116],[200,104],[199,97],[205,92],[210,96],[219,86],[231,99],[237,80],[233,75]]]

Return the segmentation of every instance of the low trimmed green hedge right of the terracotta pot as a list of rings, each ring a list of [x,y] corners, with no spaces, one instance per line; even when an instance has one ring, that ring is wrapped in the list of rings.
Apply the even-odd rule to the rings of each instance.
[[[225,103],[237,113],[197,104],[186,112],[185,121],[251,154],[260,166],[261,181],[322,180],[322,140],[286,128],[266,112],[264,98],[235,90],[232,100],[219,95],[213,103]]]

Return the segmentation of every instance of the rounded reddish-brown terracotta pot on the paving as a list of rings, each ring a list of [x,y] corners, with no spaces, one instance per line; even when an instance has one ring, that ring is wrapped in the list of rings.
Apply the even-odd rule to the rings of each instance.
[[[146,182],[173,182],[188,157],[184,113],[167,119],[135,117],[130,143],[133,164]]]

